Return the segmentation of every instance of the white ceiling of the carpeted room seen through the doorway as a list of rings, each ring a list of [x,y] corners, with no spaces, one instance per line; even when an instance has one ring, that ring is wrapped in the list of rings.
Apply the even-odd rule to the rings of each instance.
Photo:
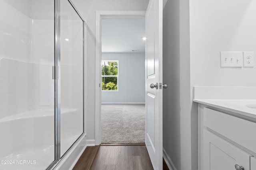
[[[102,53],[144,53],[145,17],[102,18]]]

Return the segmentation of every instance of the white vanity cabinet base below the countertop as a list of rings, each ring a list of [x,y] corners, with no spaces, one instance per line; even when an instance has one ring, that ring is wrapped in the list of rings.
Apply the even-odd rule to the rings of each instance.
[[[199,169],[256,170],[256,122],[199,104]]]

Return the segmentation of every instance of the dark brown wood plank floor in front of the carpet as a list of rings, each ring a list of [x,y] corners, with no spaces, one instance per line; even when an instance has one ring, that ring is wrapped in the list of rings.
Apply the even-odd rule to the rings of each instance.
[[[73,170],[153,170],[145,145],[87,147]]]

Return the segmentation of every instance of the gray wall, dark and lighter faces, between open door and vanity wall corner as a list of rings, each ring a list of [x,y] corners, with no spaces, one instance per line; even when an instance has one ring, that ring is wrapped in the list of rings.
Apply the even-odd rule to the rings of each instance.
[[[163,147],[177,170],[197,169],[197,109],[190,82],[189,0],[168,0],[164,7]]]

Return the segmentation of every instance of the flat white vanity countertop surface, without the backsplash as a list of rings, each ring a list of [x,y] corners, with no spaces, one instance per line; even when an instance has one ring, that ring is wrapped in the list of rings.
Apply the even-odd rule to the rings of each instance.
[[[256,108],[249,108],[247,105],[255,105],[256,100],[213,100],[213,99],[194,99],[194,102],[216,107],[219,109],[232,111],[240,115],[256,118]]]

